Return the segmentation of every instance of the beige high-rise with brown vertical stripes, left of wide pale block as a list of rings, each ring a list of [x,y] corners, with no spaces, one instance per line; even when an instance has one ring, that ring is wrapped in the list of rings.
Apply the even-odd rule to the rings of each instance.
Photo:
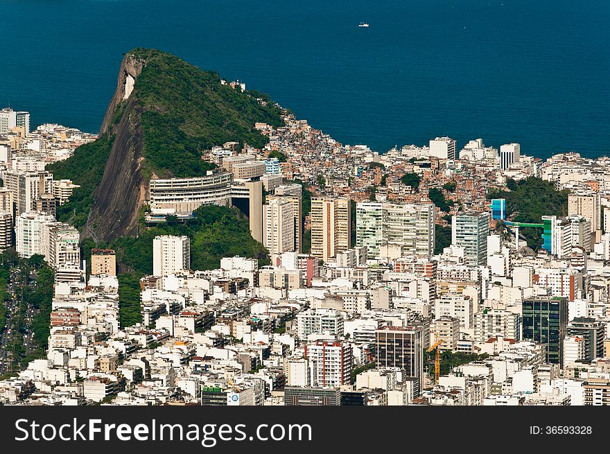
[[[311,199],[311,255],[328,261],[351,248],[351,200]]]

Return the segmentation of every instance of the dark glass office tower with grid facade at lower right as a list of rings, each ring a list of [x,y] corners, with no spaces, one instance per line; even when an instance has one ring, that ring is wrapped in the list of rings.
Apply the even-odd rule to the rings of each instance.
[[[568,326],[568,300],[534,297],[523,300],[523,340],[546,344],[546,362],[564,363],[564,338]]]

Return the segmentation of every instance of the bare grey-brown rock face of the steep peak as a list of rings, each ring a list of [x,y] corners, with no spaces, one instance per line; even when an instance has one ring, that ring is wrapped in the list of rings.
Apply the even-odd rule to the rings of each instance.
[[[116,91],[108,105],[100,133],[114,134],[112,150],[102,180],[94,193],[94,204],[82,229],[83,237],[112,241],[137,235],[138,215],[146,196],[141,175],[142,132],[137,100],[130,98],[134,84],[146,62],[134,55],[123,58]],[[123,112],[113,123],[122,101]]]

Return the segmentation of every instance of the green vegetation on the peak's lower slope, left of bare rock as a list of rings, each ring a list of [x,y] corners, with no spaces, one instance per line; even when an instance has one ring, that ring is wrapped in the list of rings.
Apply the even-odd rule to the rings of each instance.
[[[93,194],[104,175],[113,141],[114,136],[105,134],[92,143],[76,148],[69,159],[46,166],[53,173],[54,180],[72,180],[80,186],[73,191],[69,202],[58,206],[58,220],[69,221],[77,228],[85,224],[93,204]]]

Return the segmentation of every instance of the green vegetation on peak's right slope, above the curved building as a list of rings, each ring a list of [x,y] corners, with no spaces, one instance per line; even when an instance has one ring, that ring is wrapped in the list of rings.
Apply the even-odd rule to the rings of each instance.
[[[254,123],[281,125],[281,110],[220,83],[213,71],[202,71],[168,53],[134,49],[146,60],[131,96],[137,98],[146,166],[162,176],[202,175],[210,164],[202,150],[237,141],[262,148],[267,142]]]

